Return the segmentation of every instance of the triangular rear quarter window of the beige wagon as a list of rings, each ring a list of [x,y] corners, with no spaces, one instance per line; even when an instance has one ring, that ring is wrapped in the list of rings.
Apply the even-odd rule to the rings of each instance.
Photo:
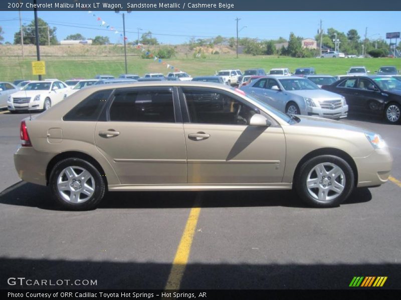
[[[111,89],[91,94],[71,109],[63,119],[65,121],[97,121],[110,93]]]

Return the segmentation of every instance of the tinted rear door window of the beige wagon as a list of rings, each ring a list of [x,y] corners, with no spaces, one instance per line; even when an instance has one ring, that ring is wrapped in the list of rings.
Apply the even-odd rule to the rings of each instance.
[[[110,120],[175,122],[172,88],[116,91],[110,107]]]

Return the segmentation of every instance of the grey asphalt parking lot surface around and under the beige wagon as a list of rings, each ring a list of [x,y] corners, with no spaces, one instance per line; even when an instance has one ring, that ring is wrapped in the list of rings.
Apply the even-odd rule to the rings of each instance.
[[[386,184],[336,208],[306,207],[292,191],[169,191],[109,192],[75,212],[20,181],[13,153],[27,116],[0,112],[1,288],[46,288],[9,277],[97,282],[50,288],[347,288],[354,276],[401,288],[400,125],[342,120],[381,134],[394,163]]]

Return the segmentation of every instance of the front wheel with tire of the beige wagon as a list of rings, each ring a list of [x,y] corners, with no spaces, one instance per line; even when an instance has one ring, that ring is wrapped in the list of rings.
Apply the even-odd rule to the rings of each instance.
[[[332,171],[335,171],[335,177]],[[344,159],[334,155],[320,155],[301,165],[294,176],[294,187],[306,204],[334,207],[340,205],[352,192],[354,173]]]

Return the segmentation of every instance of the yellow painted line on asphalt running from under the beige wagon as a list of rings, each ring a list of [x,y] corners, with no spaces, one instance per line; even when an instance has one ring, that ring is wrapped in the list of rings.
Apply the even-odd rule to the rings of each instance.
[[[200,200],[202,193],[198,192],[195,198],[195,203],[189,212],[186,220],[184,231],[182,232],[181,240],[178,244],[174,260],[172,262],[170,274],[168,275],[167,283],[164,289],[179,289],[182,276],[185,271],[186,263],[188,262],[189,252],[193,235],[195,234],[196,223],[200,213]]]

